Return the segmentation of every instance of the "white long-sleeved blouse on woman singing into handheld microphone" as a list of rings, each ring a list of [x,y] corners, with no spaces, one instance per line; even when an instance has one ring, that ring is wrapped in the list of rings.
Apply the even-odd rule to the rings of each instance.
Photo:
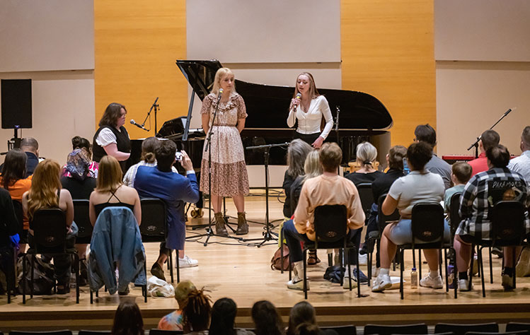
[[[298,128],[296,131],[300,134],[320,133],[322,116],[326,119],[326,127],[324,127],[320,136],[323,139],[326,139],[333,128],[333,117],[331,116],[328,100],[326,100],[323,95],[318,95],[318,97],[311,99],[309,110],[307,112],[301,110],[301,105],[298,105],[296,112],[294,112],[294,108],[289,110],[287,126],[289,126],[289,128],[294,127],[296,119],[298,119]]]

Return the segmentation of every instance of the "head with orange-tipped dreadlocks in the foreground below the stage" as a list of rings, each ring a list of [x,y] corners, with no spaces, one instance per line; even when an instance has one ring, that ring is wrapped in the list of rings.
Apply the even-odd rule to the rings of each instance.
[[[212,300],[201,290],[191,290],[182,309],[184,334],[207,335],[210,317],[212,317]]]

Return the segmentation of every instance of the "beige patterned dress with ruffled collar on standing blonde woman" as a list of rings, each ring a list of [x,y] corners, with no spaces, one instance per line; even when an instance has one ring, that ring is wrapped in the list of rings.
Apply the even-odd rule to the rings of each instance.
[[[201,114],[209,113],[212,133],[212,194],[235,196],[248,194],[248,175],[241,136],[236,128],[237,120],[247,117],[243,98],[231,93],[228,102],[219,102],[215,123],[212,126],[217,95],[210,93],[202,101]],[[204,146],[206,146],[204,141]],[[209,192],[208,152],[202,151],[200,190]]]

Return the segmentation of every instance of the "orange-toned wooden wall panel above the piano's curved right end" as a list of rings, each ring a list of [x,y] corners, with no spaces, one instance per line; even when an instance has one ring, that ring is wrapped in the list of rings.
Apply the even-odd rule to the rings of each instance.
[[[436,127],[433,0],[342,0],[342,89],[383,102],[392,145],[417,124]]]

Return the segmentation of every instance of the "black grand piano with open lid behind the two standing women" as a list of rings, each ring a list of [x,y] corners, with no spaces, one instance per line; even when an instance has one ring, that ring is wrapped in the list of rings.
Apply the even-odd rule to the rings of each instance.
[[[193,165],[200,167],[204,131],[189,129],[193,100],[195,93],[200,100],[210,93],[215,73],[223,66],[217,60],[177,60],[176,64],[193,89],[188,116],[166,121],[156,136],[175,141],[180,150],[184,149],[190,154]],[[295,130],[287,127],[287,114],[294,87],[248,83],[236,79],[236,90],[245,100],[248,114],[245,129],[241,132],[244,148],[284,143],[293,139]],[[392,117],[386,107],[373,96],[352,90],[318,88],[318,91],[326,96],[335,122],[327,141],[339,143],[344,153],[342,163],[355,160],[358,143],[371,141],[378,146],[381,141],[374,141],[374,137],[388,134]],[[135,151],[133,150],[133,155],[137,155]],[[285,165],[285,154],[285,148],[271,148],[269,164]],[[246,151],[245,160],[247,165],[263,165],[263,152]]]

